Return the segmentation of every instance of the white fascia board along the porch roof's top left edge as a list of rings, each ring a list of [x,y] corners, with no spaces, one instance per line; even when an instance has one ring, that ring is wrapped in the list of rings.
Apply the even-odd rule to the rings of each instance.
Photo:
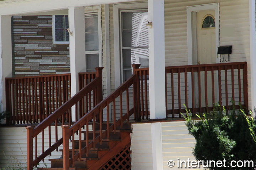
[[[72,6],[92,6],[128,1],[130,0],[6,0],[0,2],[0,15],[26,15],[30,13],[64,10]]]

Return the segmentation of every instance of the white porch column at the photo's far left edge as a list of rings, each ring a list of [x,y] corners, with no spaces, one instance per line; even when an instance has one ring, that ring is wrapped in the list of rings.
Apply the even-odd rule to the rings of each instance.
[[[0,112],[5,111],[5,78],[12,77],[11,16],[0,16]]]

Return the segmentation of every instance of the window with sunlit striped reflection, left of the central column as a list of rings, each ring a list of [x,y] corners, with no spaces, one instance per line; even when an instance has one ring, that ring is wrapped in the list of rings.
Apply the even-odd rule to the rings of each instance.
[[[148,12],[121,11],[121,67],[122,80],[132,75],[132,64],[141,64],[141,68],[149,66],[148,51]]]

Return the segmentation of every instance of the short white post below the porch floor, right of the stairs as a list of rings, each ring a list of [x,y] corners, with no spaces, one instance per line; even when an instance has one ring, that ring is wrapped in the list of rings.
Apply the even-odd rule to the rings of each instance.
[[[153,170],[163,169],[162,159],[162,125],[161,122],[151,123]]]

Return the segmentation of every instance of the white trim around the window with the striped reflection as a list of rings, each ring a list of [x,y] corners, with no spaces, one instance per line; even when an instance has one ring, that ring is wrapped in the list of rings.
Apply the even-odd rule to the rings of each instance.
[[[131,2],[124,4],[113,4],[113,20],[114,20],[114,70],[115,70],[115,87],[123,82],[123,70],[121,52],[121,16],[120,11],[148,10],[148,2]],[[122,66],[122,67],[121,67]]]

